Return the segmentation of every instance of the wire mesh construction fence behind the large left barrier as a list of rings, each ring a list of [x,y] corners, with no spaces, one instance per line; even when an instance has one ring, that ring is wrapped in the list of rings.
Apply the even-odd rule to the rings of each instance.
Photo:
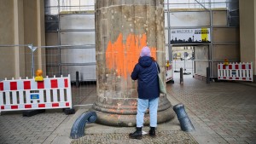
[[[38,69],[43,70],[43,78],[70,75],[73,106],[91,104],[86,100],[96,95],[96,54],[93,46],[84,47],[0,45],[0,81],[33,79]],[[15,101],[12,97],[5,102]]]

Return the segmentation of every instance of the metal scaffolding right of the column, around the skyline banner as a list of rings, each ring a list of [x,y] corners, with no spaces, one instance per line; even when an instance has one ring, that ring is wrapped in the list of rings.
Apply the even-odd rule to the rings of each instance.
[[[195,64],[200,62],[207,62],[207,67],[210,67],[210,77],[211,78],[217,78],[217,63],[222,62],[225,57],[222,58],[216,58],[214,56],[218,51],[216,50],[216,47],[221,45],[226,45],[231,47],[231,45],[235,45],[234,47],[239,48],[239,42],[233,41],[233,42],[215,42],[213,39],[213,33],[216,32],[216,30],[225,30],[229,31],[228,29],[237,29],[239,27],[239,9],[238,9],[238,0],[165,0],[165,12],[167,17],[167,25],[166,25],[166,31],[167,31],[167,39],[168,39],[168,47],[180,47],[180,46],[194,46],[194,45],[207,45],[207,60],[203,59],[196,59],[195,58]],[[225,24],[216,24],[216,15],[217,13],[222,12],[226,13],[226,23]],[[202,17],[209,17],[209,21],[207,24],[207,20],[205,20],[206,23],[201,22],[199,25],[193,25],[191,26],[191,23],[188,23],[189,25],[178,23],[177,19],[173,20],[170,19],[170,15],[174,14],[176,17],[185,17],[186,14],[189,15],[189,13],[192,15],[201,14]],[[196,16],[195,16],[196,17]],[[191,18],[192,19],[192,18]],[[195,18],[196,19],[196,18]],[[213,22],[213,19],[215,20]],[[172,21],[172,22],[170,22]],[[203,20],[201,20],[203,21]],[[173,25],[174,24],[174,25]],[[202,27],[207,27],[210,30],[210,43],[169,43],[172,39],[172,30],[176,29],[201,29]],[[232,30],[231,30],[232,31]],[[236,30],[235,30],[236,31]],[[230,51],[232,53],[232,51]],[[170,55],[172,55],[172,50]],[[173,58],[171,57],[173,60]],[[239,61],[239,58],[232,58],[230,61]],[[196,73],[196,67],[195,67],[195,73]],[[202,74],[203,75],[203,74]],[[203,75],[203,76],[206,76]]]

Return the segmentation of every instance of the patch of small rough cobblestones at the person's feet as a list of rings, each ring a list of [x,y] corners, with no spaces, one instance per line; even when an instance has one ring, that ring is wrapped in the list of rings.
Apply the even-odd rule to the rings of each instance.
[[[160,131],[157,136],[152,138],[149,135],[143,135],[142,140],[130,139],[128,133],[123,134],[89,134],[84,137],[74,140],[73,144],[87,143],[87,144],[167,144],[167,143],[177,143],[177,144],[196,144],[197,142],[188,133],[180,130],[168,130]]]

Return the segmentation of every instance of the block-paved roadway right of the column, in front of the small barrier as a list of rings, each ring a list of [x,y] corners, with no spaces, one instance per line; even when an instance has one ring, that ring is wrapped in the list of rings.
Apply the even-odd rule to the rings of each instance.
[[[190,78],[189,78],[190,77]],[[175,80],[175,79],[174,79]],[[168,92],[184,104],[189,115],[210,131],[218,143],[256,144],[256,86],[250,83],[206,84],[184,76],[168,84]],[[193,117],[191,117],[193,118]]]

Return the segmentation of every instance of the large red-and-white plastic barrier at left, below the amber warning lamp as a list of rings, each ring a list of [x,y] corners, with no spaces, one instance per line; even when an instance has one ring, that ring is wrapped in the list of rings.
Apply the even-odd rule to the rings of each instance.
[[[13,79],[0,82],[1,111],[72,108],[70,76],[32,79]]]

